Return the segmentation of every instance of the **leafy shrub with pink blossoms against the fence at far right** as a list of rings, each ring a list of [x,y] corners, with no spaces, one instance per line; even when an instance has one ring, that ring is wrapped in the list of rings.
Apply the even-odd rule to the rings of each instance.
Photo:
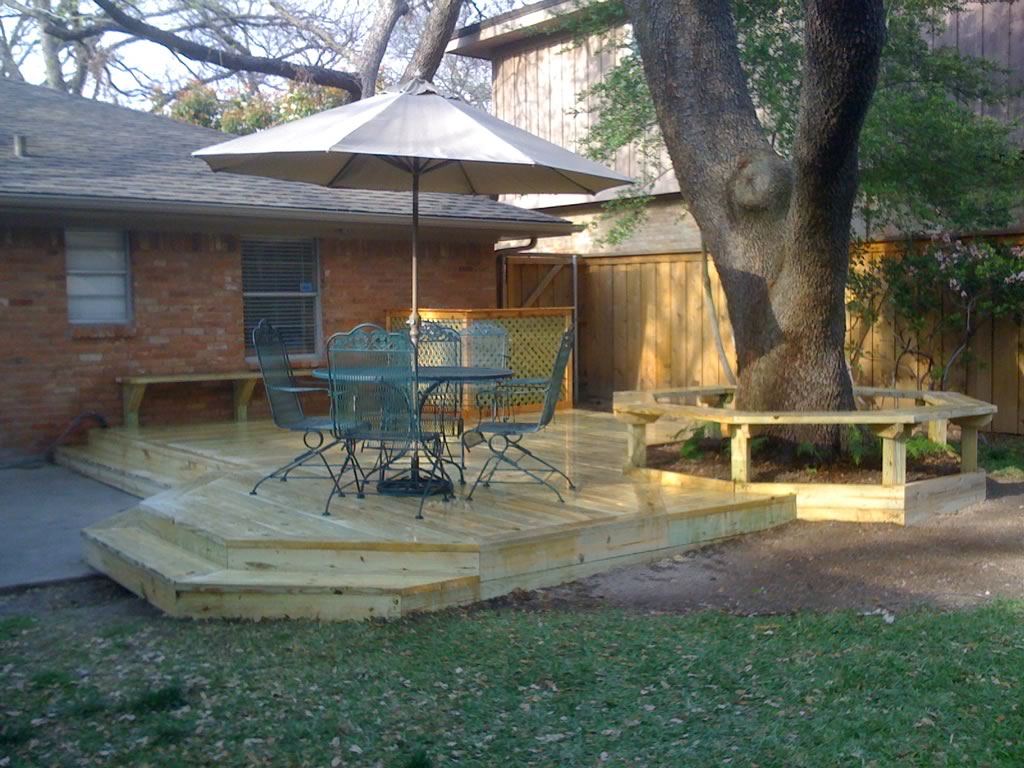
[[[906,244],[898,257],[854,256],[847,295],[851,367],[859,367],[866,331],[887,316],[897,347],[892,383],[913,361],[919,386],[944,389],[954,367],[970,359],[981,326],[1024,319],[1024,248],[943,236]],[[955,343],[943,343],[950,339]]]

